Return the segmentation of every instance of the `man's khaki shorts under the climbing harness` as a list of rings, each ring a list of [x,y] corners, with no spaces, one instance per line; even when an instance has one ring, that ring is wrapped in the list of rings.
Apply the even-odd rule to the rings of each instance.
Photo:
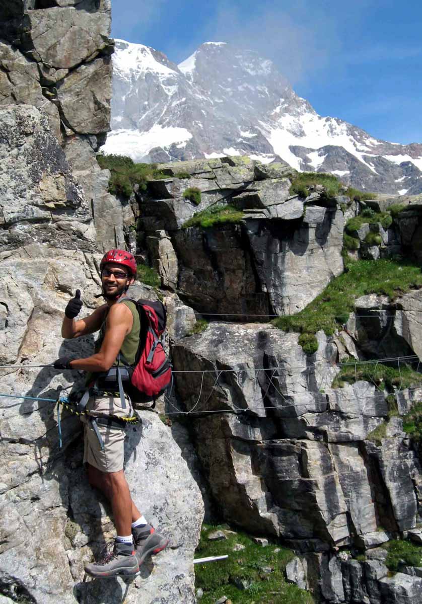
[[[130,402],[126,399],[126,409],[122,409],[120,397],[91,396],[88,399],[86,410],[95,414],[113,414],[126,417],[132,414]],[[102,451],[96,432],[89,417],[81,416],[83,426],[83,463],[89,463],[100,472],[119,472],[123,470],[125,429],[114,426],[97,424],[104,443]]]

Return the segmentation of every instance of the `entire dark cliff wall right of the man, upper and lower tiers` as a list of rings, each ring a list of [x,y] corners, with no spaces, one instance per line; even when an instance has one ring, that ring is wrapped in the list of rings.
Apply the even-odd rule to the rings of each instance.
[[[345,357],[420,356],[422,291],[394,301],[359,298],[344,329],[329,338],[317,333],[318,350],[306,355],[297,333],[253,315],[297,312],[343,271],[343,228],[359,204],[328,199],[318,188],[300,199],[289,193],[282,168],[268,173],[245,158],[163,169],[169,179],[149,184],[140,224],[163,286],[211,321],[202,333],[174,342],[172,360],[177,405],[190,413],[221,515],[300,552],[307,585],[321,602],[416,604],[420,578],[393,579],[383,562],[361,563],[350,551],[370,556],[417,530],[421,466],[401,418],[422,391],[398,385],[398,412],[391,416],[388,393],[375,384],[357,379],[340,388],[333,381]],[[185,170],[191,178],[178,178]],[[198,207],[183,198],[192,181],[203,191]],[[241,208],[242,219],[183,228],[216,199]],[[364,249],[366,233],[359,254],[417,258],[420,218],[413,199],[381,233],[377,254]]]

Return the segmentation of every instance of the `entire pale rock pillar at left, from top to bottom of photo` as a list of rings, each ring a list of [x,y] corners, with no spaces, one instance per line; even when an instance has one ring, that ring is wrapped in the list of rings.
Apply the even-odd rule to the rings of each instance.
[[[62,340],[63,310],[77,288],[83,314],[97,307],[100,252],[125,246],[129,213],[108,193],[109,173],[95,155],[109,129],[110,10],[108,0],[0,1],[0,364],[17,365],[0,368],[1,602],[196,601],[192,560],[204,504],[186,436],[174,437],[151,411],[128,429],[134,500],[170,539],[130,585],[82,582],[83,564],[115,530],[86,481],[79,419],[66,411],[59,450],[55,402],[83,378],[49,364],[88,356],[94,343],[92,335]],[[132,289],[156,297],[140,284]],[[195,315],[176,295],[170,302],[173,335],[185,335]],[[29,398],[4,396],[19,394]]]

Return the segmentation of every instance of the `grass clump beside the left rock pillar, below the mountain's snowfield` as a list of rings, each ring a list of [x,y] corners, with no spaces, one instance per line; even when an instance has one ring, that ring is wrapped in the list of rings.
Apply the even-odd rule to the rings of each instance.
[[[102,170],[110,170],[108,191],[113,195],[129,198],[134,191],[134,186],[139,185],[146,191],[148,181],[168,178],[157,164],[135,164],[130,157],[124,155],[97,155],[97,162]]]

